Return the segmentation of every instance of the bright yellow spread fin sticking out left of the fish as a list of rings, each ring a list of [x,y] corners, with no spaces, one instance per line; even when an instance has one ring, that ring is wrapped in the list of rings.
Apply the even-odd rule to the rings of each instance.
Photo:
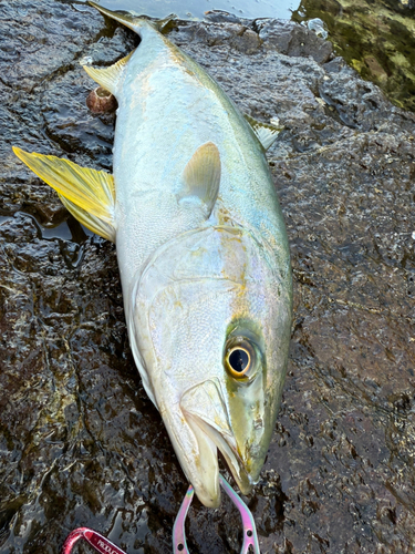
[[[110,173],[81,167],[56,156],[29,154],[15,146],[13,152],[59,193],[63,204],[82,224],[115,240],[115,188]]]

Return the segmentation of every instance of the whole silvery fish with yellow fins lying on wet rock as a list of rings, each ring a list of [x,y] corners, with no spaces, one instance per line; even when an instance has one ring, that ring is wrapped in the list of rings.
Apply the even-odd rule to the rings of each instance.
[[[243,115],[157,24],[90,2],[141,39],[108,68],[113,174],[13,147],[83,225],[116,245],[143,387],[203,504],[218,451],[248,494],[276,424],[289,356],[288,237],[266,158],[279,129]]]

